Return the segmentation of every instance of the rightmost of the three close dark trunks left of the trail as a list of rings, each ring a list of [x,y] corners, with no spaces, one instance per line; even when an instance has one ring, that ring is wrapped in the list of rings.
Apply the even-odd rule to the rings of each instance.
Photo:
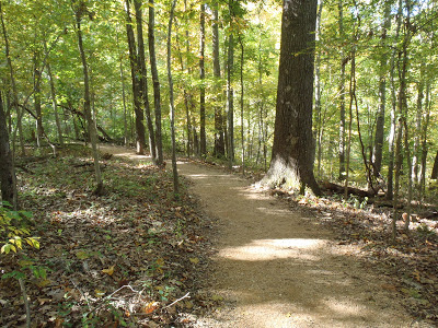
[[[155,145],[157,145],[157,165],[164,165],[163,159],[163,140],[161,132],[161,94],[160,94],[160,80],[157,69],[157,55],[155,55],[155,8],[153,0],[149,0],[149,26],[148,26],[148,42],[149,42],[149,57],[151,65],[152,82],[153,82],[153,105],[155,108]]]

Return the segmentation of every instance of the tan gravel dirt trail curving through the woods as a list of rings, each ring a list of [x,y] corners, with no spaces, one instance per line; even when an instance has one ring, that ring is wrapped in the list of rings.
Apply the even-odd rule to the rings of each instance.
[[[419,327],[385,277],[314,220],[219,169],[178,169],[221,225],[210,280],[224,302],[196,327]]]

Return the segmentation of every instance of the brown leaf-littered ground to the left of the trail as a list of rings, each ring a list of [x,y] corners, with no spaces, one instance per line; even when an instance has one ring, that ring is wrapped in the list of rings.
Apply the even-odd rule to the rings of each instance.
[[[199,294],[210,223],[185,185],[175,200],[170,173],[112,157],[103,161],[106,192],[95,197],[91,163],[89,150],[69,148],[19,171],[41,249],[0,265],[11,272],[26,259],[47,272],[27,274],[32,327],[177,327],[215,305]],[[0,306],[2,327],[24,325],[12,278],[0,280]]]

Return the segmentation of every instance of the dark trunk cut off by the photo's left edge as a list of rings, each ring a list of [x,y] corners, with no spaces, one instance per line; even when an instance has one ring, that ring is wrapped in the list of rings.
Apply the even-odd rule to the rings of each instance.
[[[9,145],[7,117],[0,93],[0,185],[1,200],[18,208],[13,156]]]

